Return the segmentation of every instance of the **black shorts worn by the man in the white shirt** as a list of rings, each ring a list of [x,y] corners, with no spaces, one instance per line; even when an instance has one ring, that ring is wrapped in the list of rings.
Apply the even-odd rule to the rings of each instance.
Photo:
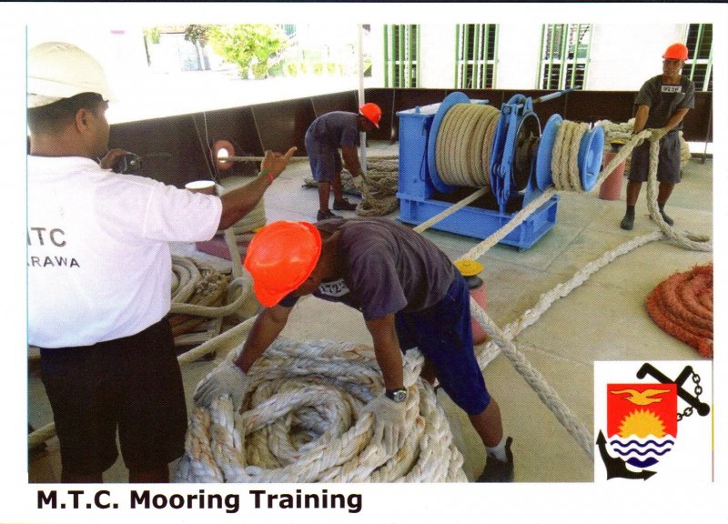
[[[40,354],[64,470],[109,469],[117,425],[127,469],[158,469],[182,456],[187,407],[166,318],[131,337]]]

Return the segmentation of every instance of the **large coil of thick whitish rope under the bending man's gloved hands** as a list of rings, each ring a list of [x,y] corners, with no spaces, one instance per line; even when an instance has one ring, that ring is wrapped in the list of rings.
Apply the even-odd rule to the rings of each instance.
[[[467,481],[434,389],[419,378],[423,362],[416,350],[404,358],[410,431],[387,456],[372,439],[373,416],[361,412],[384,388],[373,349],[278,338],[248,371],[252,385],[242,414],[233,413],[227,396],[192,413],[175,480]]]

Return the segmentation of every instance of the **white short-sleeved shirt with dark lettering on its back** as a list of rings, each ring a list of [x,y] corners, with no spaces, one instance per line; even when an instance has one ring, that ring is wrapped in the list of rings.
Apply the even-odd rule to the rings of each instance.
[[[167,242],[215,235],[222,202],[78,156],[28,156],[28,343],[88,346],[167,315]]]

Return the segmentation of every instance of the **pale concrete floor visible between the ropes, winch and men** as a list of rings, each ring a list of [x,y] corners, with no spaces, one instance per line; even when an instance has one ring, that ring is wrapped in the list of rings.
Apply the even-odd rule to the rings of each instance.
[[[371,145],[374,154],[396,154],[397,146]],[[310,176],[308,164],[288,167],[265,197],[268,221],[314,221],[318,209],[315,189],[303,188]],[[237,184],[223,180],[224,185]],[[626,186],[626,184],[624,185]],[[637,207],[635,228],[622,231],[622,199],[605,201],[598,189],[588,195],[561,193],[557,224],[533,247],[519,251],[496,246],[480,262],[488,294],[488,313],[504,326],[519,317],[538,297],[568,280],[578,269],[604,252],[656,229],[647,216],[645,188]],[[675,227],[713,234],[713,164],[693,159],[683,171],[668,204]],[[342,213],[354,217],[353,212]],[[392,214],[391,217],[396,217]],[[478,243],[477,239],[430,230],[424,235],[450,257],[457,258]],[[595,360],[699,359],[691,347],[658,328],[647,315],[644,298],[675,272],[713,260],[712,253],[696,252],[652,242],[617,258],[591,277],[569,297],[551,307],[517,338],[531,364],[555,388],[587,428],[592,428],[592,363]],[[291,315],[283,335],[296,339],[331,338],[370,344],[359,313],[348,307],[308,299]],[[192,392],[215,361],[183,366],[188,405]],[[484,371],[486,383],[501,406],[504,428],[514,438],[513,452],[518,482],[590,482],[593,465],[580,446],[546,408],[505,356],[495,358]],[[469,479],[480,474],[484,450],[468,418],[440,391],[457,446],[465,456]],[[29,422],[40,428],[52,421],[39,373],[29,367]],[[56,482],[60,477],[57,439],[48,441],[45,453],[29,464],[31,482]],[[105,480],[126,481],[126,469],[117,461]]]

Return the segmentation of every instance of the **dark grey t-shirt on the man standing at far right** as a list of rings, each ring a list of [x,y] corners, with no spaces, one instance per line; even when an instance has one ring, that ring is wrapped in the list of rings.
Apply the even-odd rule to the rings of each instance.
[[[695,85],[687,76],[680,77],[680,84],[662,84],[662,75],[653,76],[642,84],[634,105],[650,106],[645,128],[663,127],[677,109],[693,109]],[[675,129],[682,129],[682,122]]]

